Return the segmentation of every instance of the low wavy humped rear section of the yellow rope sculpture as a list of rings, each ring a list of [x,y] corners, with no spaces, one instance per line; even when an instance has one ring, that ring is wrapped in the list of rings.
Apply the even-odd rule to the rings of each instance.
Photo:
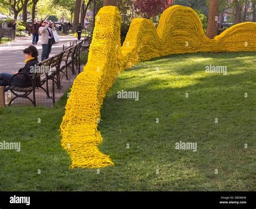
[[[174,5],[163,12],[157,30],[148,19],[133,19],[122,46],[123,60],[136,63],[176,53],[255,51],[255,34],[256,23],[247,22],[210,39],[194,10]]]

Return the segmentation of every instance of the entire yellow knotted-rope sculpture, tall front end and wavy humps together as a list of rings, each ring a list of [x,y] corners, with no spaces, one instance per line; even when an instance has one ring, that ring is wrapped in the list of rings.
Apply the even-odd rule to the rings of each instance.
[[[73,83],[60,126],[62,146],[71,156],[70,168],[113,165],[98,149],[103,138],[97,121],[107,90],[124,69],[174,53],[256,51],[255,33],[256,23],[248,22],[209,39],[197,13],[176,5],[164,11],[157,30],[150,20],[133,19],[121,47],[119,11],[104,6],[96,16],[88,62]]]

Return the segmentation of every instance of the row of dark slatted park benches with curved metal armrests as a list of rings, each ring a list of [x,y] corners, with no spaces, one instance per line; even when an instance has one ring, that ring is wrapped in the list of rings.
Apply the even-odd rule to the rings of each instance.
[[[25,73],[17,73],[12,76],[10,79],[9,85],[4,88],[5,92],[8,90],[11,91],[15,96],[10,100],[8,106],[11,105],[12,101],[17,98],[25,98],[31,101],[33,106],[36,106],[36,89],[41,88],[44,90],[46,94],[46,98],[52,99],[53,105],[55,104],[55,85],[57,88],[61,88],[61,80],[62,77],[60,73],[65,75],[66,80],[69,80],[68,71],[71,70],[72,74],[76,74],[76,69],[78,69],[78,73],[80,73],[80,52],[82,52],[82,46],[88,41],[84,39],[80,43],[75,46],[70,46],[66,48],[63,52],[56,54],[55,56],[48,58],[42,62],[39,62],[38,69],[39,72],[36,71],[33,74],[25,74]],[[87,42],[88,43],[88,42]],[[88,47],[89,48],[89,47]],[[76,66],[76,69],[75,69]],[[30,82],[31,85],[28,87],[15,86],[12,84],[15,76],[24,74]],[[52,83],[52,94],[50,96],[49,90],[49,81]],[[45,85],[45,87],[44,87]],[[29,95],[32,94],[32,99]]]

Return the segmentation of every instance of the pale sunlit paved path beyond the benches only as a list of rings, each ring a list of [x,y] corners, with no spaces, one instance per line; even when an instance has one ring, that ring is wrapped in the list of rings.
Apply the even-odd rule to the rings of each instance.
[[[52,45],[50,57],[61,52],[63,45],[68,47],[70,41],[77,40],[77,38],[72,36],[59,36],[59,40],[58,44]],[[0,44],[0,73],[11,73],[12,71],[18,71],[19,68],[24,67],[25,54],[22,51],[30,45],[32,45],[31,37],[16,37],[14,43],[10,43],[9,45],[7,43]],[[41,61],[42,45],[40,36],[35,46],[39,52],[38,59]]]

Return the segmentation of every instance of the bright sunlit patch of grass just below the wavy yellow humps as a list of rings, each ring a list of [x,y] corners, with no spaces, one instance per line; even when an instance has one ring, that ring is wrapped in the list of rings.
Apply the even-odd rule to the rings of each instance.
[[[137,66],[132,67],[128,72],[120,76],[122,82],[131,83],[134,88],[147,89],[164,89],[164,88],[185,88],[189,86],[201,86],[204,83],[211,83],[212,80],[229,82],[230,76],[238,76],[244,74],[247,76],[248,69],[246,66],[234,67],[232,61],[228,63],[227,72],[206,73],[205,67],[208,65],[208,60],[213,58],[197,58],[190,59],[191,62],[167,62],[159,60],[142,62]],[[172,60],[170,57],[169,60]],[[185,59],[188,60],[188,59]],[[198,61],[201,60],[201,61]],[[247,60],[248,61],[248,60]],[[155,64],[158,62],[158,64]],[[183,65],[181,65],[183,63]],[[184,64],[185,63],[185,64]],[[215,60],[214,64],[222,64],[222,60]],[[158,66],[158,67],[157,67]],[[228,68],[230,67],[230,68]],[[138,80],[137,80],[138,79]],[[139,81],[139,82],[138,82]],[[207,86],[207,83],[206,86]],[[122,83],[123,85],[124,83]]]

